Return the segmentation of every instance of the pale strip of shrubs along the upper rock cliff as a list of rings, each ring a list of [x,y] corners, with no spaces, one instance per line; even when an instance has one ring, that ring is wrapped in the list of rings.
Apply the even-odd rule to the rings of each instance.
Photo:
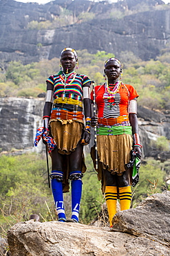
[[[73,10],[69,8],[63,8],[63,6],[59,6],[57,10],[54,9],[54,12],[51,13],[50,17],[41,17],[40,21],[32,20],[28,22],[28,25],[25,29],[28,30],[52,30],[55,28],[61,28],[63,26],[77,24],[82,22],[87,22],[95,18],[100,19],[123,19],[125,16],[134,15],[138,12],[147,12],[150,10],[169,10],[168,5],[156,5],[151,6],[148,5],[145,1],[141,1],[140,3],[130,6],[109,6],[109,10],[101,13],[98,8],[92,12],[93,8],[87,8],[87,11],[79,12],[76,10],[76,7]]]

